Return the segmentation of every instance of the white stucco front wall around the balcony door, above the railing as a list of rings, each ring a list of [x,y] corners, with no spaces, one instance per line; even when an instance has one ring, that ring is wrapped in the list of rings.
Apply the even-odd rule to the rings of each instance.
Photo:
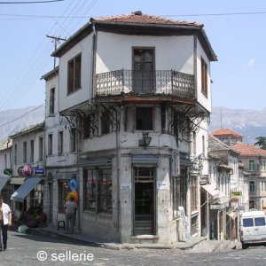
[[[108,45],[106,45],[108,43]],[[193,74],[192,36],[117,35],[98,32],[96,73],[132,69],[132,47],[155,48],[155,70]]]

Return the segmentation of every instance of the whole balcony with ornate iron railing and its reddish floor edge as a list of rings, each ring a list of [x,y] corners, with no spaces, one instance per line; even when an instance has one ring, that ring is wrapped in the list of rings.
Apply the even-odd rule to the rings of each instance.
[[[116,70],[96,74],[95,101],[193,104],[193,74],[175,70]]]

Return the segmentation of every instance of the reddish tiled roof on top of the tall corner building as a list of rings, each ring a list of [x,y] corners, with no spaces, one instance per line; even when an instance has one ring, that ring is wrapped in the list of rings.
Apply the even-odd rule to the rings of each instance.
[[[124,22],[124,23],[140,23],[140,24],[162,24],[162,25],[179,25],[179,26],[193,26],[203,27],[203,24],[197,22],[188,22],[184,20],[168,20],[165,18],[145,15],[142,12],[132,12],[129,15],[117,15],[111,17],[91,18],[95,21],[110,21],[110,22]]]

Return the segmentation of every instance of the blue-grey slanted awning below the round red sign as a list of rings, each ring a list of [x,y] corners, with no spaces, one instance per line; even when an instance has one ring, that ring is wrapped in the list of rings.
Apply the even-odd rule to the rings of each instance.
[[[36,184],[41,182],[41,177],[28,177],[24,184],[12,193],[11,200],[23,201],[29,192],[31,192]]]

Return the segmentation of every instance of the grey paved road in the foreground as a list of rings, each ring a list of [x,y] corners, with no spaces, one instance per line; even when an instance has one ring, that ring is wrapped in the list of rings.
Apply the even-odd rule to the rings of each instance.
[[[266,247],[214,254],[180,254],[173,250],[110,250],[43,236],[9,231],[0,265],[266,265]]]

